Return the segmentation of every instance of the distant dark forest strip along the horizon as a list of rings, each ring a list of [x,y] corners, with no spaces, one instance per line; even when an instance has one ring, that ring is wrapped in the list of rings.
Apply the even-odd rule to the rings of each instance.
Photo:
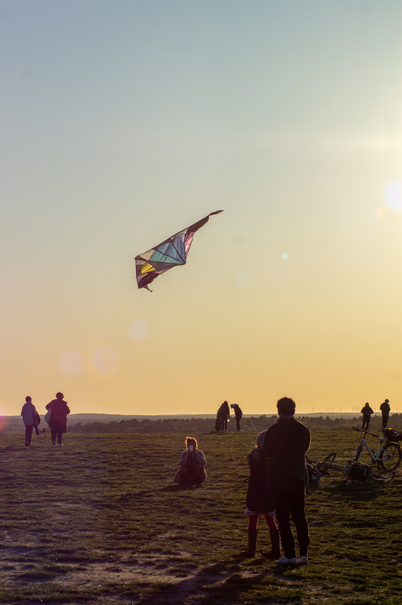
[[[257,416],[241,420],[243,431],[254,431],[260,433],[265,431],[271,425],[275,424],[277,416]],[[296,416],[296,419],[305,424],[311,430],[316,431],[337,431],[350,429],[351,427],[362,427],[362,416],[352,419],[330,417],[309,417]],[[254,425],[254,427],[252,426]],[[40,428],[46,427],[46,422],[42,420]],[[381,434],[381,417],[375,416],[370,428],[374,433]],[[191,418],[191,419],[159,419],[159,420],[120,420],[120,422],[89,422],[88,424],[67,424],[68,433],[186,433],[199,434],[211,433],[214,431],[215,418]],[[389,417],[388,427],[402,429],[402,414],[392,414]],[[232,419],[228,424],[229,431],[235,431],[235,420]],[[0,418],[0,433],[24,433],[25,427],[22,419]]]

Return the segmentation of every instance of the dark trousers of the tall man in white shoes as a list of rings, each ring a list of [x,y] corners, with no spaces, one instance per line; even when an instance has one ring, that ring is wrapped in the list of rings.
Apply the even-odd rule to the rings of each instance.
[[[273,502],[275,503],[275,516],[278,522],[279,534],[281,535],[282,550],[285,557],[293,559],[296,557],[295,538],[293,538],[290,526],[290,515],[296,526],[298,535],[299,554],[307,557],[310,537],[308,535],[308,523],[305,518],[305,491],[281,491],[273,489]]]

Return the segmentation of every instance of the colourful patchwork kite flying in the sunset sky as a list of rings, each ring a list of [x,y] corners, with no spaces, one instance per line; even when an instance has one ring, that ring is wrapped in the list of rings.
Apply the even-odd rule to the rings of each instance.
[[[197,223],[162,241],[158,246],[154,246],[150,250],[147,250],[147,252],[135,257],[138,288],[146,288],[152,292],[148,288],[148,284],[152,283],[158,275],[165,273],[165,271],[172,269],[172,267],[186,264],[188,250],[190,250],[194,233],[205,225],[205,223],[208,223],[209,217],[220,212],[223,212],[223,210],[211,212],[211,214],[208,214],[208,217],[202,218]]]

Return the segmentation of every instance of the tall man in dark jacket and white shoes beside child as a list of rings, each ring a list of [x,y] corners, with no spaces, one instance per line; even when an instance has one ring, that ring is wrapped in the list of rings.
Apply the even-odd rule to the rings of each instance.
[[[305,454],[310,447],[310,431],[295,419],[296,404],[293,399],[282,397],[276,407],[279,419],[267,430],[260,451],[260,456],[268,459],[268,485],[272,489],[276,521],[285,553],[276,563],[305,565],[308,563],[310,544],[305,517]],[[298,535],[299,560],[296,559],[290,515]]]

